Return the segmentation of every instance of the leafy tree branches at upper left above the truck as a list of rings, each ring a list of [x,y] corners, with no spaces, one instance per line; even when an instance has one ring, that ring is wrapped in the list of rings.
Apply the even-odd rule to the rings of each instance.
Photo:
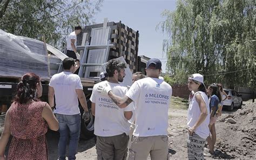
[[[0,4],[0,28],[60,47],[75,25],[89,25],[103,0],[6,0]]]

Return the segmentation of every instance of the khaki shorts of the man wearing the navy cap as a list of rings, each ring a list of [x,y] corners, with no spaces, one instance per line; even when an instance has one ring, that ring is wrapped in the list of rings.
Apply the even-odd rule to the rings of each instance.
[[[132,136],[128,159],[147,159],[149,154],[152,160],[169,159],[168,137],[165,135],[149,137]]]

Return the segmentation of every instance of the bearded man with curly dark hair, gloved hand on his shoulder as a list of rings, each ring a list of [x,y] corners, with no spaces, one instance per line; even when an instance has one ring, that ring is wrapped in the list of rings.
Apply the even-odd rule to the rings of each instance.
[[[93,86],[91,95],[92,114],[95,115],[94,131],[97,136],[96,150],[98,159],[126,159],[129,141],[130,123],[133,104],[126,108],[119,108],[107,95],[97,92],[100,85],[109,85],[114,94],[124,96],[127,87],[119,84],[123,82],[126,65],[116,59],[107,63],[107,81]]]

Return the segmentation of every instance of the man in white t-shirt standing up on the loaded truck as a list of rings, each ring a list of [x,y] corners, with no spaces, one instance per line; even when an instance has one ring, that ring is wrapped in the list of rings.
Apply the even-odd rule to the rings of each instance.
[[[82,31],[81,26],[75,26],[75,31],[71,32],[68,36],[68,40],[66,41],[66,55],[75,59],[76,61],[76,70],[80,66],[79,60],[81,59],[80,54],[77,52],[77,35]]]

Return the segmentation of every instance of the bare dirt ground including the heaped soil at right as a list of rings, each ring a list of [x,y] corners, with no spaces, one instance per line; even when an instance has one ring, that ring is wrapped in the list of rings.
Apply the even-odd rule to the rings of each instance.
[[[171,106],[174,107],[169,109],[168,137],[170,159],[187,159],[186,106],[183,104],[182,107],[180,103]],[[215,152],[217,155],[205,157],[206,159],[256,158],[255,108],[253,103],[244,102],[244,106],[240,110],[235,109],[233,112],[224,110],[223,115],[216,122],[217,142]],[[221,122],[227,115],[233,115],[237,124]],[[0,117],[0,122],[3,122],[3,117]],[[0,129],[2,129],[2,126],[1,124]],[[59,135],[56,132],[49,131],[46,136],[48,138],[49,158],[57,159]],[[96,159],[97,155],[93,138],[87,141],[79,141],[76,157],[77,159]]]

